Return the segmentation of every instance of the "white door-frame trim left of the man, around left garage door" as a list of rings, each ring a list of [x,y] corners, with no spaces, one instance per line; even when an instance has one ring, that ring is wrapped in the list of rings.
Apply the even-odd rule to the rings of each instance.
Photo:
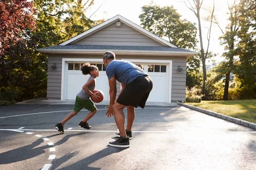
[[[66,98],[65,90],[66,89],[66,77],[67,77],[67,72],[66,67],[67,67],[67,62],[103,62],[102,59],[98,58],[62,58],[62,71],[61,71],[61,101],[64,101]]]

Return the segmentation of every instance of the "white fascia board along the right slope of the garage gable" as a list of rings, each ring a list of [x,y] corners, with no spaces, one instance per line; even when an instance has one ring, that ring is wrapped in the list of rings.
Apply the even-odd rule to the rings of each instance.
[[[147,31],[146,29],[144,29],[144,28],[138,26],[137,24],[135,24],[135,23],[129,21],[128,19],[126,19],[126,18],[124,18],[124,17],[122,17],[122,16],[119,16],[119,20],[120,20],[121,22],[124,22],[124,23],[127,24],[128,26],[130,26],[130,27],[136,29],[137,31],[139,31],[139,32],[141,32],[141,33],[143,33],[143,34],[145,34],[146,36],[148,36],[148,37],[150,37],[150,38],[152,38],[152,39],[155,39],[155,41],[157,41],[157,42],[159,42],[159,43],[161,43],[161,44],[164,44],[164,45],[166,45],[166,46],[173,47],[173,48],[178,48],[177,46],[174,46],[174,44],[169,43],[169,42],[166,41],[165,39],[156,36],[155,34],[153,34],[153,33],[149,32],[149,31]]]

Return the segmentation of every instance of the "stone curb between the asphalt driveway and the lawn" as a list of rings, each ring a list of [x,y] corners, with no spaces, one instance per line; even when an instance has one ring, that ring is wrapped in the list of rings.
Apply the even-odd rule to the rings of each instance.
[[[209,116],[220,118],[220,119],[223,119],[225,121],[229,121],[229,122],[232,122],[232,123],[235,123],[235,124],[239,124],[241,126],[249,127],[249,128],[252,128],[252,129],[256,130],[256,124],[255,123],[243,121],[241,119],[230,117],[230,116],[226,116],[226,115],[220,114],[220,113],[211,112],[211,111],[208,111],[206,109],[202,109],[202,108],[199,108],[199,107],[191,106],[189,104],[180,103],[180,102],[177,102],[177,103],[180,106],[184,106],[184,107],[193,109],[194,111],[198,111],[198,112],[201,112],[201,113],[204,113],[204,114],[208,114]]]

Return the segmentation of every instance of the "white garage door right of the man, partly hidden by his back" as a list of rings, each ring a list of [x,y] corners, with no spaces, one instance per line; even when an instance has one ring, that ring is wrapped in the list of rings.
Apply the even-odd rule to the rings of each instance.
[[[152,79],[153,88],[147,102],[168,102],[169,64],[135,63]]]

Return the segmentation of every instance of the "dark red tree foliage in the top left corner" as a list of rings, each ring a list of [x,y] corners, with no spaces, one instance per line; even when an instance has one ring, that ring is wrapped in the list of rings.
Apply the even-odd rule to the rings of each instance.
[[[1,65],[4,51],[21,41],[23,31],[35,29],[36,23],[32,16],[34,12],[33,3],[27,0],[0,1]]]

